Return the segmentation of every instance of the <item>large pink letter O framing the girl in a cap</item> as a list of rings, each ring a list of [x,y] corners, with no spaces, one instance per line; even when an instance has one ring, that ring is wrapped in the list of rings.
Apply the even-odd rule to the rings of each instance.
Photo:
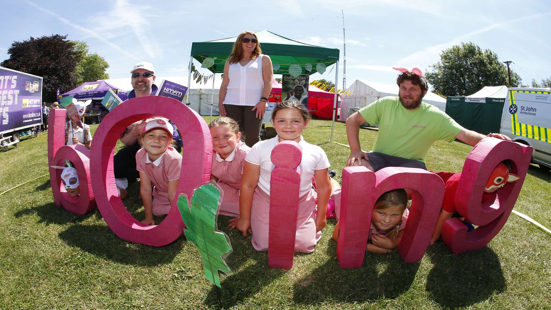
[[[160,247],[183,234],[185,227],[177,200],[160,225],[143,225],[126,210],[117,193],[113,174],[113,154],[121,132],[133,122],[150,117],[167,117],[178,127],[185,152],[176,193],[192,197],[193,190],[210,179],[212,139],[207,123],[195,111],[172,98],[138,97],[125,101],[109,112],[94,134],[91,161],[92,187],[105,222],[121,239]]]

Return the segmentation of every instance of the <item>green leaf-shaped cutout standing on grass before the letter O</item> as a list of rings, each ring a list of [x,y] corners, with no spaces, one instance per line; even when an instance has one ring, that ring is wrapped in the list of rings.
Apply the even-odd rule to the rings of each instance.
[[[193,191],[191,208],[186,195],[178,197],[178,209],[186,224],[184,233],[193,242],[201,258],[205,277],[213,284],[220,286],[218,270],[231,274],[224,259],[231,254],[230,239],[218,230],[218,202],[220,190],[213,184],[206,184]]]

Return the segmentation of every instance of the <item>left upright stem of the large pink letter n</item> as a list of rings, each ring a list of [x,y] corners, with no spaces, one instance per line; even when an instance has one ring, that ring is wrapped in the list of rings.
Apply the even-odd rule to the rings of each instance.
[[[375,205],[375,173],[364,166],[346,167],[342,174],[341,218],[337,259],[341,268],[360,268],[364,263],[371,212]]]

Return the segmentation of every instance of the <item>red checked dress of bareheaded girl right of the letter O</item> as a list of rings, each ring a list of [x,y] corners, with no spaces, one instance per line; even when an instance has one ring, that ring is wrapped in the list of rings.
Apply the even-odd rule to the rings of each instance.
[[[220,158],[216,152],[213,154],[210,174],[218,179],[217,183],[224,191],[219,211],[222,215],[239,216],[239,189],[245,157],[250,149],[245,142],[239,141],[226,159]]]

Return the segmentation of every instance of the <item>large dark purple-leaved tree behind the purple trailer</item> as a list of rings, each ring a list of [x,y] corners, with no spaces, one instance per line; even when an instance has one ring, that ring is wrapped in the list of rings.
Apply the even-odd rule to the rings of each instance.
[[[14,41],[0,66],[43,77],[42,100],[55,101],[58,87],[63,93],[78,86],[75,67],[81,56],[74,47],[67,35],[59,34]]]

